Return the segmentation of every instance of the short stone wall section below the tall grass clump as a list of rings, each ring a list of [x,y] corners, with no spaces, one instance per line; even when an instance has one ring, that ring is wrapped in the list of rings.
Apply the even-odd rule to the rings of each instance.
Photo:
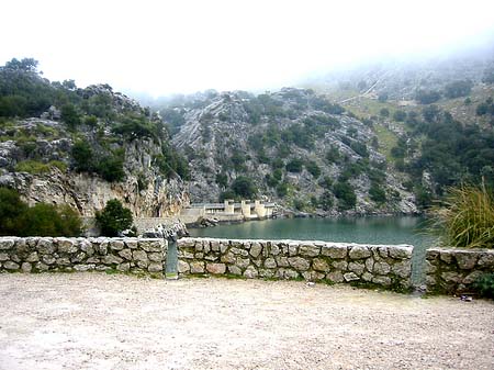
[[[469,293],[480,276],[494,273],[494,250],[429,248],[425,264],[428,292]]]

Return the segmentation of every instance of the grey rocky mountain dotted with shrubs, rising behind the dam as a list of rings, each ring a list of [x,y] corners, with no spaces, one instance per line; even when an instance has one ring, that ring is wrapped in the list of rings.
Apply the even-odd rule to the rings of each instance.
[[[415,213],[369,122],[312,90],[209,91],[161,109],[192,202],[269,199],[319,214]]]

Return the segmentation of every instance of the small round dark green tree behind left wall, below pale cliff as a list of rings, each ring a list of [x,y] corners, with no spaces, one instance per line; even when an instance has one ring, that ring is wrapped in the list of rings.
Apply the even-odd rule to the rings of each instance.
[[[133,223],[131,210],[124,208],[117,199],[108,201],[104,209],[97,212],[96,220],[104,236],[119,236],[131,228]]]

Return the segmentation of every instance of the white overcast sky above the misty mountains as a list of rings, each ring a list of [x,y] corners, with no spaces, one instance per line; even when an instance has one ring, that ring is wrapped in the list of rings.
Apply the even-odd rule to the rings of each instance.
[[[272,90],[494,41],[492,0],[3,0],[0,65],[151,97]]]

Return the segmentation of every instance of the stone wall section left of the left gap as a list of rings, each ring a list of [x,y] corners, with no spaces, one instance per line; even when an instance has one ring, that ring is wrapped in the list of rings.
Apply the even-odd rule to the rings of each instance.
[[[165,239],[0,237],[0,271],[162,274],[167,247]]]

